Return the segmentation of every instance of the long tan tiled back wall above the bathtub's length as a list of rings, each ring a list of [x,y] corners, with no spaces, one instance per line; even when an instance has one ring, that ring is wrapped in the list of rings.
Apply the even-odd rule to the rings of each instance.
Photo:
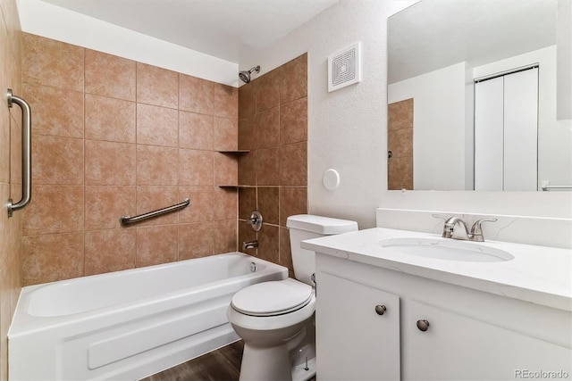
[[[236,250],[237,88],[24,34],[34,194],[23,285]],[[122,228],[120,216],[189,197]]]

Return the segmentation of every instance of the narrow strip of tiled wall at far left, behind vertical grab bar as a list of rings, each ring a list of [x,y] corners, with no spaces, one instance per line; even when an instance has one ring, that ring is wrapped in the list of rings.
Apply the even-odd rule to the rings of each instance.
[[[21,111],[5,91],[21,96],[21,28],[15,0],[0,1],[0,381],[8,379],[7,333],[21,289],[22,211],[8,219],[5,203],[21,199]]]

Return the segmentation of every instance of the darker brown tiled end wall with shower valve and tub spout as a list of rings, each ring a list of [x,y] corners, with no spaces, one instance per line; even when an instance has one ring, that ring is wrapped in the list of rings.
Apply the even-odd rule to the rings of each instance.
[[[286,219],[307,213],[307,54],[254,79],[239,90],[239,244],[242,250],[292,270]],[[260,211],[265,224],[246,223]],[[291,275],[291,274],[290,274]]]

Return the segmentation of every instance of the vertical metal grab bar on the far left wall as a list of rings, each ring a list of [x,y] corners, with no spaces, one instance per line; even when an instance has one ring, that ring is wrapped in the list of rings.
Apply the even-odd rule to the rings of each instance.
[[[18,104],[21,108],[21,200],[12,203],[8,199],[8,217],[12,217],[13,211],[18,211],[28,205],[32,199],[32,114],[28,102],[21,97],[12,94],[12,88],[8,89],[8,107]]]

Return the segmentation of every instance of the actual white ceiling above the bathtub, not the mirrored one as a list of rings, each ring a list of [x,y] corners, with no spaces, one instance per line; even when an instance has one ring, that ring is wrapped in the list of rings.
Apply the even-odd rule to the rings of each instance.
[[[339,0],[43,0],[230,62]]]

